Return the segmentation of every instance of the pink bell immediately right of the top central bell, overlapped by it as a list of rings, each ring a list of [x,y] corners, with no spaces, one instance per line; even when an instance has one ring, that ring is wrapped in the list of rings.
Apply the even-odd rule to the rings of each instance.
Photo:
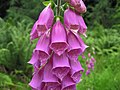
[[[72,60],[77,60],[78,56],[82,54],[82,47],[80,46],[78,39],[72,32],[68,33],[68,44],[68,57]]]

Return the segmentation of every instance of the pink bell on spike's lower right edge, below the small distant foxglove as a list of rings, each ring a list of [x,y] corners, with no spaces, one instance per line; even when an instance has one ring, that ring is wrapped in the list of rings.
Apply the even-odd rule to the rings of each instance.
[[[70,65],[71,65],[71,78],[76,82],[79,83],[82,73],[84,69],[82,68],[81,64],[79,61],[73,61],[70,60]]]

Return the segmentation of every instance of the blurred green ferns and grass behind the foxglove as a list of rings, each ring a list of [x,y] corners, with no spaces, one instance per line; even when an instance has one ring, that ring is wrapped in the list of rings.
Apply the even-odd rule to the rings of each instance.
[[[29,34],[44,8],[42,1],[0,0],[0,90],[30,90],[32,66],[27,62],[36,41],[31,44]],[[96,64],[89,76],[83,75],[77,90],[120,90],[120,0],[85,3],[85,42],[88,52],[95,48]]]

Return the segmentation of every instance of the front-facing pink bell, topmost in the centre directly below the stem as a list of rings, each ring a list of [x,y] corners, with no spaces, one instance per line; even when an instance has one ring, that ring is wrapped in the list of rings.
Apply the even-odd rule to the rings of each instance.
[[[50,48],[58,55],[63,54],[68,48],[66,31],[59,20],[54,24],[51,32]]]

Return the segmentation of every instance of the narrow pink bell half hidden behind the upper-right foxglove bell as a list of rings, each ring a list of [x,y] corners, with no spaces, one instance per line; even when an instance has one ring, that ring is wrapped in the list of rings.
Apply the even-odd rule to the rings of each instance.
[[[79,32],[80,34],[83,34],[85,37],[87,37],[86,34],[85,34],[86,31],[87,31],[87,26],[86,26],[86,24],[85,24],[85,22],[84,22],[83,17],[80,16],[80,15],[77,15],[77,19],[78,19],[78,21],[79,21],[79,26],[80,26],[78,32]]]

